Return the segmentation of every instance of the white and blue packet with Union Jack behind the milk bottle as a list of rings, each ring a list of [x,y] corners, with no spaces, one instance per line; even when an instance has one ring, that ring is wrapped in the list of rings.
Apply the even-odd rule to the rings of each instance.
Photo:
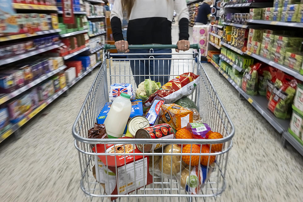
[[[115,100],[117,97],[121,95],[121,93],[126,93],[130,95],[130,99],[133,100],[135,98],[135,94],[133,91],[133,87],[131,84],[119,83],[119,84],[111,84],[109,87],[109,99],[111,101]]]

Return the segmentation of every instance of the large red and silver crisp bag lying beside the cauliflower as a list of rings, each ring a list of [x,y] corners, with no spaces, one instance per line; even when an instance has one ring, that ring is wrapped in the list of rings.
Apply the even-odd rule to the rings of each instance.
[[[159,90],[149,96],[145,101],[146,106],[152,105],[154,100],[164,100],[166,103],[173,103],[181,97],[191,95],[198,84],[199,75],[192,72],[184,73],[164,84]]]

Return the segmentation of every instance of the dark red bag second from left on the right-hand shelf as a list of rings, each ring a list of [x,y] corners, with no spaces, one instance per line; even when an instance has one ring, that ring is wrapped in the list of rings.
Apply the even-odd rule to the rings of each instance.
[[[258,80],[259,80],[259,87],[258,87],[258,92],[260,95],[262,96],[266,96],[266,92],[267,92],[267,83],[269,80],[272,79],[271,77],[271,71],[270,70],[271,66],[264,66],[258,69]]]

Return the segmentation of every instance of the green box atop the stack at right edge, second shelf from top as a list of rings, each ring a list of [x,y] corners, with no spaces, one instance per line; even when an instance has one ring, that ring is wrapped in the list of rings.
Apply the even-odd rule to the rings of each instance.
[[[301,49],[303,38],[300,37],[288,37],[283,35],[275,35],[273,48],[284,49],[288,52],[296,52]]]

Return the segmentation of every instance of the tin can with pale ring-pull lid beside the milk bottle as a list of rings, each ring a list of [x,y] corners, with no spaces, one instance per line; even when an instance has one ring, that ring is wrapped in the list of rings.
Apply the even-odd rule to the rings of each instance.
[[[149,122],[144,116],[134,116],[127,124],[126,137],[135,137],[136,132],[141,128],[149,127]]]

